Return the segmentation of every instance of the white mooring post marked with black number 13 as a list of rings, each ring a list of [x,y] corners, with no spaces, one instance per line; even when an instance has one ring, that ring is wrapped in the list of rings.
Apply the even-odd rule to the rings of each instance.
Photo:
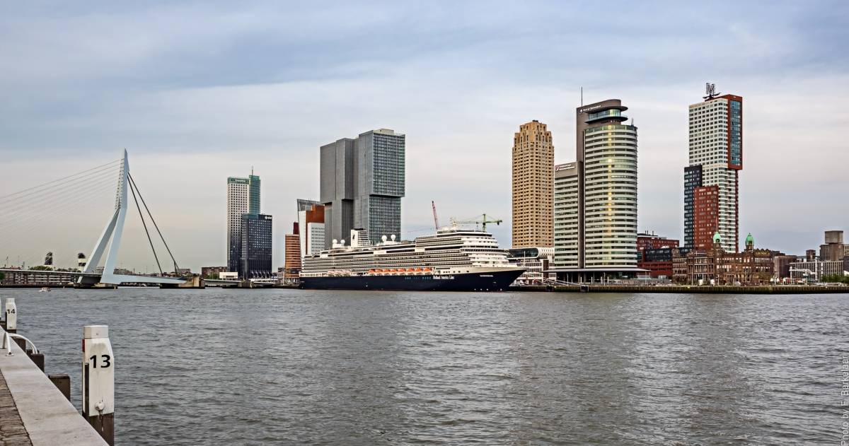
[[[115,444],[115,357],[109,326],[82,327],[82,416]]]

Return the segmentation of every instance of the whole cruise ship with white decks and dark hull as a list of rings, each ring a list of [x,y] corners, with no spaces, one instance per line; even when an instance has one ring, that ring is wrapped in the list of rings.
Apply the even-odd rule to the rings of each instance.
[[[510,265],[507,251],[485,231],[442,228],[436,234],[396,242],[395,236],[368,243],[363,230],[351,231],[301,266],[301,287],[337,290],[500,291],[525,268]]]

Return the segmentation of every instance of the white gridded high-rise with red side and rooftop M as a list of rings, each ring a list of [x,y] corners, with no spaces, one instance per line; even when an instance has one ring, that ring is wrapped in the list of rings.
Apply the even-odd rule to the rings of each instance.
[[[684,243],[694,246],[693,193],[716,186],[722,249],[739,251],[739,171],[743,170],[743,98],[718,96],[708,84],[704,102],[689,106],[689,167],[684,169]],[[695,175],[698,171],[699,174]]]

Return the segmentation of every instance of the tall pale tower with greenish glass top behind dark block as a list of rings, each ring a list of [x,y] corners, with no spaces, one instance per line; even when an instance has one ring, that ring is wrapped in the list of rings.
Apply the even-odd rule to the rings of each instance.
[[[260,177],[251,172],[247,178],[227,179],[227,267],[240,272],[242,267],[242,215],[260,212]]]

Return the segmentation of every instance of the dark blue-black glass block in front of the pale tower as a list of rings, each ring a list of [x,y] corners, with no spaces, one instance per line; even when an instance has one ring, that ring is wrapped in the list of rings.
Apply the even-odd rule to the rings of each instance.
[[[242,255],[239,278],[256,279],[273,276],[272,217],[264,214],[242,215]]]

